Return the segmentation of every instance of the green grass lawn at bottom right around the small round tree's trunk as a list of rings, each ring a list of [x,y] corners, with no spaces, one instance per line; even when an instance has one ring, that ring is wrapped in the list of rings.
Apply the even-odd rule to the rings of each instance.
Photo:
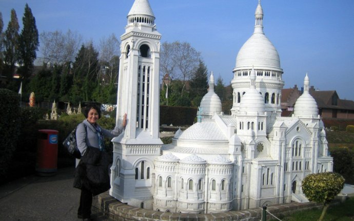
[[[321,212],[321,209],[310,209],[278,218],[280,218],[282,221],[313,221],[320,218]],[[277,221],[277,219],[269,220]],[[354,197],[350,197],[342,204],[337,204],[329,207],[327,213],[325,214],[324,220],[354,220]]]

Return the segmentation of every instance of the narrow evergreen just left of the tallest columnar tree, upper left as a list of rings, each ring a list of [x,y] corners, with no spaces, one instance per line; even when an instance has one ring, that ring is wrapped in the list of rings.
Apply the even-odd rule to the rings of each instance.
[[[4,33],[4,72],[8,79],[12,79],[15,73],[15,64],[17,62],[16,51],[18,49],[18,20],[15,9],[11,10],[11,19]]]

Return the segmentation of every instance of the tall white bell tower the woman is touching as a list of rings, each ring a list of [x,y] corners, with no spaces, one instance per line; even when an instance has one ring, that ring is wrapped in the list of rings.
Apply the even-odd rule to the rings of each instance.
[[[153,159],[160,156],[159,62],[161,34],[148,0],[135,0],[121,36],[117,125],[127,113],[124,133],[112,139],[110,195],[151,209]]]

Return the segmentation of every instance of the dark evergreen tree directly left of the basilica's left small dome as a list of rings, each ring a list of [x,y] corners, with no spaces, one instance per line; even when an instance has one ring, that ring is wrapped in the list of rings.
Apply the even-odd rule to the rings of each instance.
[[[203,61],[199,61],[198,69],[193,73],[190,81],[189,98],[192,106],[198,107],[203,96],[208,92],[208,69]]]

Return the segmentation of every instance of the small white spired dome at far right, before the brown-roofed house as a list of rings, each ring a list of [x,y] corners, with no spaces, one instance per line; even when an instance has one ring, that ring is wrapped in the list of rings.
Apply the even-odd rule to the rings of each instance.
[[[304,94],[302,94],[295,103],[294,115],[297,117],[311,117],[318,115],[318,106],[316,100],[309,93],[310,81],[306,73],[304,80]]]

